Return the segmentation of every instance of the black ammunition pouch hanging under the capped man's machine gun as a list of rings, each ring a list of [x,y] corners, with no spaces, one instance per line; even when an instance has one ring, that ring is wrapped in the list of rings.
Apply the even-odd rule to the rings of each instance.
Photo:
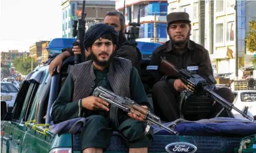
[[[186,116],[192,117],[193,120],[207,118],[212,107],[213,99],[208,96],[194,94],[188,90],[184,90],[180,94],[178,105],[180,118],[186,119]]]

